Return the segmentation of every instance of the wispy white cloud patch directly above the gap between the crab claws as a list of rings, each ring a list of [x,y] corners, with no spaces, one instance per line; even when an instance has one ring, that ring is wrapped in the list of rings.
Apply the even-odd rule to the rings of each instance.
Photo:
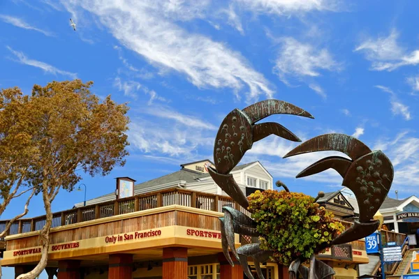
[[[274,73],[277,73],[279,79],[288,86],[291,86],[288,77],[304,80],[304,78],[318,77],[321,75],[321,70],[340,70],[339,63],[326,49],[316,50],[309,43],[301,43],[290,37],[281,41],[283,44],[275,62]],[[325,96],[320,86],[316,84],[309,86],[316,93]]]

